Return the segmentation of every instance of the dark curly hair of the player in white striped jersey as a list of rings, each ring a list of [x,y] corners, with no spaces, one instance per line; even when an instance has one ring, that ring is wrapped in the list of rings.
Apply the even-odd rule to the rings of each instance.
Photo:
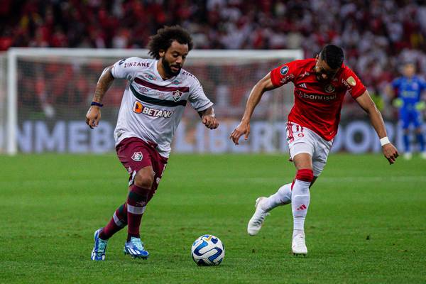
[[[160,28],[155,35],[151,36],[148,43],[148,54],[155,59],[160,59],[160,55],[158,54],[160,50],[168,50],[174,40],[180,44],[187,44],[188,51],[192,50],[194,46],[190,33],[184,28],[181,26],[165,26],[164,28]]]

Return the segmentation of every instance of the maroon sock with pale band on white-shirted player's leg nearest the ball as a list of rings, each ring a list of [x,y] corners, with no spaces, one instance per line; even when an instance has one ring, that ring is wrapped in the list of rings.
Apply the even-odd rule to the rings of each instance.
[[[141,226],[142,214],[145,212],[146,202],[151,190],[136,185],[131,185],[129,197],[127,197],[127,241],[131,237],[140,238],[139,226]]]

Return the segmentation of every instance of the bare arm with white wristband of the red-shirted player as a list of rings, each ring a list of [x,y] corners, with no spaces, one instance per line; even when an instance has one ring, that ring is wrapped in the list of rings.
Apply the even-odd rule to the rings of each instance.
[[[376,104],[374,104],[373,100],[368,94],[368,91],[361,94],[361,96],[356,98],[356,102],[366,111],[368,116],[370,116],[371,125],[376,130],[378,138],[380,138],[380,142],[382,145],[383,155],[385,155],[386,159],[388,159],[390,164],[395,163],[396,158],[398,158],[398,150],[393,146],[393,144],[389,141],[388,136],[386,134],[385,123],[383,122],[383,118],[381,116],[380,111],[378,111]]]

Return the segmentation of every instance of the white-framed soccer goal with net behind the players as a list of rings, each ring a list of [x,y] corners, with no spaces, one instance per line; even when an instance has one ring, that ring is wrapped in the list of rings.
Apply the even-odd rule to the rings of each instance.
[[[0,91],[1,151],[114,151],[113,131],[126,82],[114,80],[104,97],[97,129],[87,127],[85,114],[104,67],[131,56],[148,58],[148,50],[9,50],[7,94],[2,93],[5,88]],[[253,114],[250,141],[235,147],[228,137],[244,113],[253,85],[274,67],[300,58],[301,50],[192,50],[184,68],[200,80],[207,97],[214,102],[220,126],[209,131],[200,124],[197,112],[187,107],[175,134],[173,151],[286,151],[284,121],[293,103],[291,84],[263,95]],[[0,66],[5,67],[5,62],[0,61]],[[0,80],[4,81],[0,83],[6,82],[4,75],[1,72]]]

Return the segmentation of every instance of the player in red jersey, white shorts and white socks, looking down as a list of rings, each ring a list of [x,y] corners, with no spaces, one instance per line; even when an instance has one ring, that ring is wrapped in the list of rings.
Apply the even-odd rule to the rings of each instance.
[[[294,84],[295,103],[288,114],[287,141],[290,158],[297,170],[292,183],[283,185],[270,197],[256,200],[256,211],[247,231],[258,234],[271,209],[291,203],[293,212],[294,254],[307,253],[305,244],[305,217],[310,204],[310,187],[322,172],[333,138],[337,134],[340,110],[346,92],[356,100],[370,117],[380,138],[383,155],[395,163],[398,151],[389,141],[380,111],[371,100],[364,84],[343,64],[344,52],[337,45],[327,45],[316,58],[295,60],[275,68],[251,90],[241,122],[230,138],[236,145],[250,134],[250,119],[264,92],[288,82]]]

